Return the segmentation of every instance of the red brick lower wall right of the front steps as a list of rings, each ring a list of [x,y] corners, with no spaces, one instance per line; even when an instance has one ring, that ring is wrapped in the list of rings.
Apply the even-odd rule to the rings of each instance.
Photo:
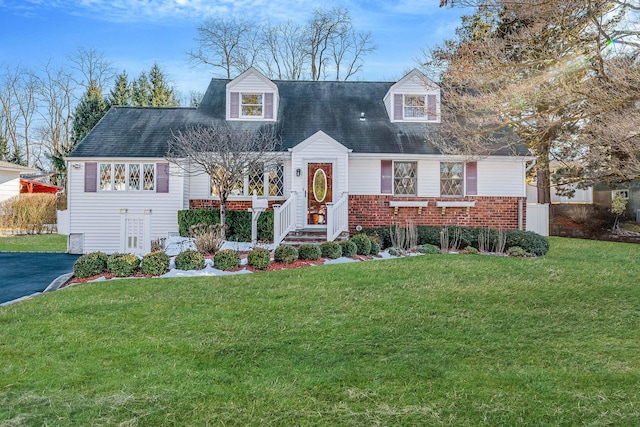
[[[492,229],[518,228],[518,199],[522,199],[522,224],[526,224],[526,198],[518,197],[469,197],[469,198],[402,198],[411,201],[429,201],[422,213],[417,207],[401,207],[395,214],[395,208],[389,207],[390,200],[400,200],[393,196],[349,196],[349,228],[385,227],[391,224],[405,224],[407,220],[415,225],[460,225],[464,227],[489,227]],[[467,208],[436,207],[437,201],[470,201],[476,205]]]

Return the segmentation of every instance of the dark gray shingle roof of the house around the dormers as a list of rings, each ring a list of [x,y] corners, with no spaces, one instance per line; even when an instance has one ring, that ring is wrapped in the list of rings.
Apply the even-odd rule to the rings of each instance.
[[[111,108],[68,157],[164,157],[176,131],[225,123],[228,82],[211,80],[197,109]],[[437,133],[439,124],[389,120],[383,98],[393,82],[274,83],[280,95],[275,128],[282,150],[323,131],[354,153],[439,153],[428,142],[428,134]],[[365,113],[364,121],[361,113]],[[255,128],[265,123],[230,121],[229,125]]]

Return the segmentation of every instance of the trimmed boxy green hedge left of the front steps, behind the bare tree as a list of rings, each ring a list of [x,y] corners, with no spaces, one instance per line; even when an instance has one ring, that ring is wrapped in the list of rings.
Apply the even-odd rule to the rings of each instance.
[[[180,236],[189,237],[189,230],[198,224],[219,224],[220,209],[188,209],[178,211]],[[251,212],[227,210],[227,240],[251,241]],[[273,211],[262,212],[258,218],[258,240],[273,240]]]

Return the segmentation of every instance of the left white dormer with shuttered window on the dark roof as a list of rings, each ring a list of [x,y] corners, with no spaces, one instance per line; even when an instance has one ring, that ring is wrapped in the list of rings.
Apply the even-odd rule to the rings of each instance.
[[[278,86],[251,67],[227,83],[227,120],[276,121]]]

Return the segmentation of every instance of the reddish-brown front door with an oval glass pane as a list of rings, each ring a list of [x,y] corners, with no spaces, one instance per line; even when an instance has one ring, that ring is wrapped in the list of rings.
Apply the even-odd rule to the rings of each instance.
[[[333,201],[333,164],[307,165],[307,225],[327,225],[326,204]]]

